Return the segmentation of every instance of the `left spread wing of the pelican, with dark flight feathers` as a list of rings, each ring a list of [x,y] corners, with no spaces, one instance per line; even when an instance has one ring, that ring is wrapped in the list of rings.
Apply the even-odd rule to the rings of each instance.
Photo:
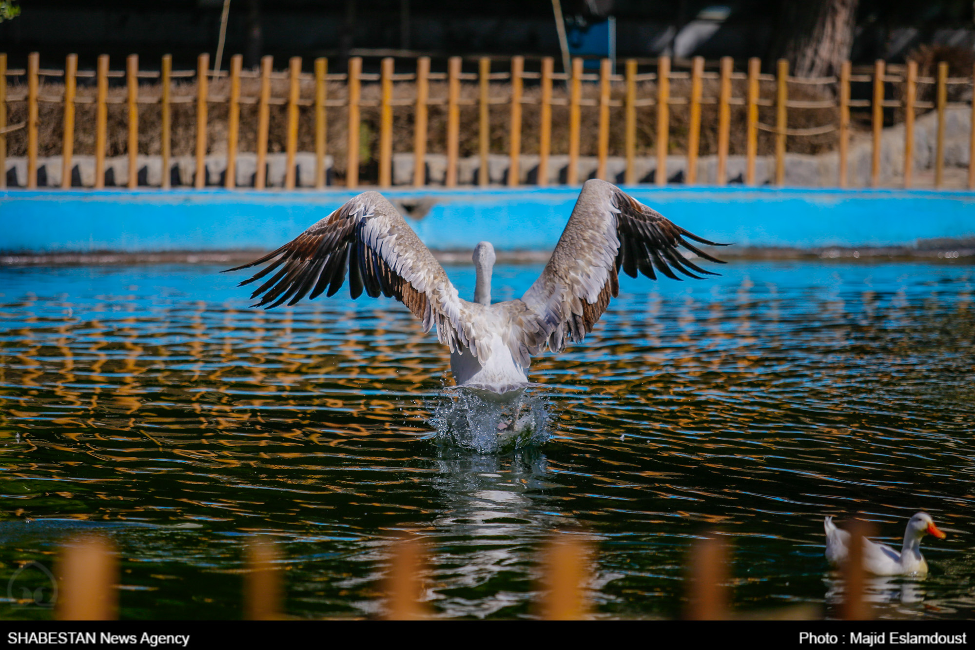
[[[273,262],[271,262],[273,261]],[[241,286],[278,269],[254,290],[254,306],[294,305],[305,296],[332,296],[349,276],[349,294],[359,298],[382,294],[407,305],[423,321],[423,331],[436,325],[437,338],[450,351],[478,349],[474,319],[466,312],[444,267],[423,245],[396,208],[378,192],[350,199],[281,248],[239,270],[271,262]],[[280,268],[279,268],[280,267]]]

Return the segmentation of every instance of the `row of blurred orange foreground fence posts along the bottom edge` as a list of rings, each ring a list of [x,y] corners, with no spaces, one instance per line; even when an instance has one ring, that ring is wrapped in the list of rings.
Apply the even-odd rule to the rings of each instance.
[[[835,618],[867,620],[876,612],[867,598],[862,565],[863,540],[875,533],[867,522],[854,519],[849,561],[842,567],[843,598],[833,612]],[[821,619],[821,606],[806,604],[735,613],[731,610],[728,584],[730,560],[722,536],[707,535],[690,548],[687,558],[683,618],[697,621],[732,619]],[[251,620],[285,619],[284,558],[268,540],[257,539],[246,548],[244,565],[244,617]],[[381,590],[384,617],[392,620],[434,618],[425,581],[429,574],[427,548],[418,539],[404,538],[390,547],[389,564]],[[551,540],[541,552],[540,598],[532,612],[540,619],[579,620],[593,618],[590,584],[595,556],[583,536],[563,534]],[[80,536],[63,549],[57,570],[59,593],[55,615],[60,620],[118,618],[119,580],[116,551],[106,538]]]

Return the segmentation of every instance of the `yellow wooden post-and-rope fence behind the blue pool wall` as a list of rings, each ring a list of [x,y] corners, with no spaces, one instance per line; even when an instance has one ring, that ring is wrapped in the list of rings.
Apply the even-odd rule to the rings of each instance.
[[[674,71],[671,69],[671,61],[667,57],[661,57],[656,65],[656,69],[640,71],[638,61],[625,61],[623,74],[613,73],[609,60],[603,60],[599,73],[588,73],[583,71],[583,61],[575,59],[571,63],[571,70],[568,72],[555,72],[554,61],[552,58],[545,58],[541,61],[540,71],[526,71],[525,59],[514,57],[511,60],[510,70],[492,71],[491,61],[481,59],[478,62],[477,72],[464,72],[462,70],[462,60],[454,57],[448,61],[447,72],[430,71],[430,60],[420,58],[416,60],[415,71],[409,73],[396,72],[395,61],[393,59],[383,59],[378,73],[363,72],[363,61],[360,58],[352,58],[348,61],[346,72],[329,72],[329,61],[327,59],[316,59],[314,61],[314,72],[302,72],[302,61],[300,58],[292,58],[289,62],[287,71],[277,72],[273,69],[271,57],[264,57],[261,60],[259,70],[244,70],[242,58],[237,55],[232,58],[229,71],[210,71],[209,55],[200,55],[196,70],[174,70],[172,60],[169,56],[162,59],[160,70],[140,70],[137,55],[128,58],[125,70],[109,69],[109,61],[106,55],[98,57],[98,66],[95,70],[79,70],[77,57],[69,55],[65,61],[64,69],[43,69],[39,64],[39,56],[33,53],[28,56],[27,67],[25,69],[8,69],[6,55],[0,54],[0,187],[6,185],[6,156],[7,156],[7,134],[25,128],[26,134],[26,159],[27,159],[27,187],[37,186],[38,169],[38,104],[40,102],[53,102],[63,106],[63,147],[62,147],[62,173],[61,186],[71,186],[72,178],[72,154],[74,147],[75,124],[75,105],[78,103],[94,102],[96,104],[95,117],[95,187],[103,187],[105,183],[105,149],[106,149],[106,129],[107,129],[107,104],[124,102],[128,108],[128,178],[126,185],[130,188],[137,187],[137,149],[138,149],[138,116],[139,106],[147,103],[161,104],[162,112],[162,186],[170,185],[171,169],[171,150],[172,150],[172,106],[176,103],[195,103],[196,105],[196,173],[194,175],[194,185],[203,187],[207,183],[206,175],[206,156],[207,156],[207,137],[208,137],[208,116],[207,110],[210,104],[228,104],[228,124],[227,124],[227,173],[225,175],[225,185],[227,187],[236,186],[236,174],[234,173],[238,157],[238,139],[241,129],[240,107],[241,104],[256,104],[257,124],[249,125],[256,130],[256,173],[254,175],[254,187],[262,189],[267,185],[266,179],[266,160],[268,145],[268,122],[269,106],[272,104],[284,104],[287,106],[287,167],[284,186],[292,189],[295,186],[295,155],[297,153],[297,134],[299,127],[299,106],[313,106],[314,112],[314,142],[315,142],[315,171],[314,186],[324,187],[326,179],[326,145],[327,133],[329,128],[329,109],[343,106],[347,108],[347,134],[348,146],[346,147],[346,178],[345,184],[348,187],[359,186],[360,173],[360,129],[362,124],[361,108],[364,106],[375,106],[379,108],[379,139],[378,152],[378,185],[380,187],[390,186],[392,183],[392,158],[393,158],[393,110],[397,106],[409,106],[413,110],[413,184],[423,185],[426,183],[426,164],[425,156],[428,142],[428,107],[431,105],[447,106],[447,173],[445,184],[455,186],[458,181],[458,142],[459,142],[459,115],[461,107],[474,105],[477,107],[479,115],[479,140],[478,155],[480,157],[480,168],[477,175],[477,183],[487,185],[488,165],[487,156],[489,151],[489,106],[493,104],[506,104],[509,107],[508,116],[508,139],[507,148],[509,161],[509,172],[507,174],[507,184],[517,185],[520,183],[519,164],[522,152],[522,120],[525,104],[533,104],[540,115],[540,134],[539,134],[539,162],[536,174],[537,183],[545,185],[549,181],[549,165],[551,151],[552,133],[552,106],[567,105],[568,108],[568,130],[569,140],[567,146],[568,164],[565,174],[565,183],[579,183],[579,157],[580,157],[580,115],[583,108],[595,108],[599,111],[599,137],[597,145],[598,167],[596,177],[605,179],[607,175],[606,161],[609,155],[609,108],[620,106],[624,108],[625,115],[625,150],[626,171],[624,174],[625,183],[637,183],[636,157],[637,142],[637,113],[648,107],[655,107],[656,110],[656,172],[655,183],[663,185],[667,183],[667,156],[668,142],[671,136],[670,111],[674,106],[686,106],[689,112],[689,133],[686,151],[687,167],[685,183],[697,183],[697,162],[700,150],[701,135],[701,106],[703,104],[718,105],[718,176],[717,183],[726,182],[726,166],[728,160],[728,142],[730,131],[730,110],[731,106],[743,105],[747,113],[747,147],[746,147],[746,168],[744,183],[756,183],[756,158],[758,155],[758,133],[765,131],[774,135],[774,175],[773,183],[782,184],[785,179],[785,155],[786,139],[795,136],[815,136],[832,132],[837,132],[839,148],[839,175],[836,180],[840,187],[847,184],[848,148],[850,141],[850,109],[864,108],[872,111],[873,125],[873,158],[871,166],[871,181],[873,185],[878,185],[880,180],[880,146],[883,128],[884,108],[899,108],[904,111],[904,185],[911,186],[913,183],[913,147],[915,142],[914,121],[916,111],[919,109],[935,109],[938,115],[938,128],[936,132],[936,154],[935,154],[935,185],[941,186],[944,180],[944,151],[945,151],[945,109],[952,105],[965,105],[968,102],[957,103],[948,102],[948,88],[956,85],[972,85],[975,83],[975,69],[972,77],[949,77],[948,64],[941,62],[937,68],[935,77],[917,76],[917,63],[909,61],[905,66],[903,74],[889,74],[885,70],[884,62],[877,61],[873,74],[853,74],[849,61],[842,64],[839,77],[822,78],[800,78],[790,76],[788,62],[781,60],[776,64],[775,74],[761,73],[761,61],[751,59],[748,61],[747,71],[740,72],[734,70],[731,58],[725,57],[720,61],[719,71],[705,71],[704,60],[697,57],[692,60],[689,71]],[[215,97],[209,94],[208,79],[215,77],[229,76],[229,93],[225,96]],[[14,89],[8,89],[7,78],[24,78],[26,82],[20,83]],[[45,96],[40,94],[41,77],[58,77],[63,79],[63,94],[59,96]],[[94,98],[79,97],[76,94],[76,81],[78,78],[94,77],[97,81],[97,94]],[[125,99],[109,98],[108,86],[109,79],[113,77],[125,78],[127,95]],[[197,81],[197,93],[195,96],[176,96],[173,95],[172,85],[176,79],[193,79]],[[245,78],[259,79],[259,93],[254,97],[246,97],[241,94],[241,80]],[[144,98],[139,96],[140,79],[158,79],[162,87],[161,96],[158,98]],[[289,92],[287,97],[272,97],[271,80],[287,79],[289,81]],[[703,81],[714,79],[719,82],[718,97],[704,97],[702,95]],[[432,80],[447,81],[447,97],[432,98],[429,95],[429,84]],[[525,81],[529,83],[537,82],[540,86],[540,96],[537,100],[528,100],[524,95]],[[689,80],[689,94],[686,97],[678,97],[671,93],[671,82],[674,80]],[[744,97],[733,95],[732,81],[744,81]],[[302,97],[301,82],[311,81],[314,83],[314,93],[312,97]],[[328,96],[329,81],[345,82],[347,85],[347,97],[345,99],[332,99]],[[492,84],[490,82],[507,82],[509,92],[501,97],[492,96]],[[653,97],[638,97],[639,82],[654,82],[655,95]],[[774,82],[775,93],[773,97],[761,97],[760,82]],[[362,99],[363,83],[378,83],[381,88],[380,99],[375,101],[365,101]],[[411,99],[394,99],[393,87],[396,82],[411,82],[415,88],[414,97]],[[473,82],[477,84],[478,96],[476,100],[462,99],[461,84]],[[552,93],[553,84],[565,82],[568,87],[568,97],[554,98]],[[597,82],[599,84],[598,99],[584,99],[582,83]],[[612,99],[611,88],[613,84],[622,85],[624,89],[623,99]],[[873,86],[873,99],[853,100],[851,99],[850,88],[852,84],[871,84]],[[884,99],[884,87],[886,84],[902,86],[901,99]],[[934,86],[934,102],[917,101],[918,85]],[[741,84],[739,84],[740,86]],[[790,86],[804,85],[806,87],[820,87],[824,92],[823,99],[817,100],[796,100],[790,99]],[[497,84],[493,84],[496,89]],[[27,118],[20,124],[7,124],[7,104],[10,102],[26,102]],[[775,123],[764,124],[759,120],[759,107],[774,107]],[[790,110],[804,109],[837,109],[838,120],[835,123],[823,124],[811,128],[795,129],[789,128]],[[971,103],[973,122],[975,122],[975,102]],[[970,150],[975,151],[975,129],[971,130]],[[968,187],[975,188],[975,156],[969,156]]]

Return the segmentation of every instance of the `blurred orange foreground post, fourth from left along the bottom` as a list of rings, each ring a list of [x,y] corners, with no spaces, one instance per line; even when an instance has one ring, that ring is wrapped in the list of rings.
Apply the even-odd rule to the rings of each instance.
[[[542,601],[546,621],[579,621],[589,615],[588,548],[576,536],[561,535],[542,551]]]

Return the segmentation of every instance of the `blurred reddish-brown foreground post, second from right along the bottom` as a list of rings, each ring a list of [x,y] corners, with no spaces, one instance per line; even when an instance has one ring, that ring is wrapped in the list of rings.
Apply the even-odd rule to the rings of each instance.
[[[687,608],[690,621],[725,621],[728,615],[727,547],[718,537],[694,542],[688,566]]]

